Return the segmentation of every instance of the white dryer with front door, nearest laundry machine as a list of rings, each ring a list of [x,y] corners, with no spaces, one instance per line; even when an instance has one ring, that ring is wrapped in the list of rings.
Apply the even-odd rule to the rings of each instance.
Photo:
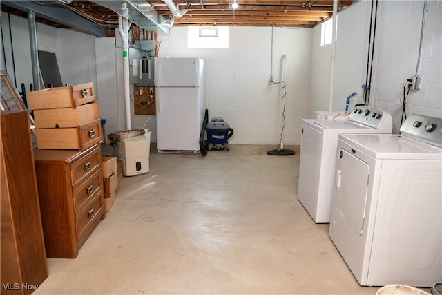
[[[329,236],[358,283],[442,281],[442,119],[410,115],[401,135],[338,137]]]

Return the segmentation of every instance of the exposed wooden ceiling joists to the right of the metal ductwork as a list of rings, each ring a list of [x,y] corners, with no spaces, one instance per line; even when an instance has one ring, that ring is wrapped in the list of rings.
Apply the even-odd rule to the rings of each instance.
[[[148,0],[161,15],[170,15],[161,0]],[[187,10],[174,26],[287,26],[314,27],[332,17],[333,0],[175,0],[180,9]],[[338,0],[338,11],[356,1]]]

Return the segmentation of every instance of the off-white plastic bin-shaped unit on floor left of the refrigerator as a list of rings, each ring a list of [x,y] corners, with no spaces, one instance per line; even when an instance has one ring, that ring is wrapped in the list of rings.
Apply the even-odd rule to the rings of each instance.
[[[148,173],[151,133],[124,138],[119,142],[119,155],[123,164],[123,175],[133,176]]]

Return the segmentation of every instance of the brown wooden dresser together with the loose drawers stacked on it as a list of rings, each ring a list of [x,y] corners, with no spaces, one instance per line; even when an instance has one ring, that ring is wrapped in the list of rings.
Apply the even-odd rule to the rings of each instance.
[[[75,258],[106,217],[102,129],[93,84],[28,93],[46,256]]]

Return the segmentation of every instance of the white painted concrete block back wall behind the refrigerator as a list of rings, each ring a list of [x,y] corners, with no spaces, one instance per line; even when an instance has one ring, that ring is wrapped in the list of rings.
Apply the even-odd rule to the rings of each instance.
[[[159,37],[159,57],[204,59],[204,107],[209,119],[223,117],[235,130],[229,143],[278,145],[284,93],[282,84],[269,82],[271,38],[271,27],[231,27],[230,48],[188,48],[187,28],[175,27],[169,36]],[[287,87],[282,141],[300,144],[301,120],[308,108],[311,29],[273,29],[275,82],[283,79],[283,55],[287,55]],[[132,124],[142,126],[145,120],[146,116],[135,116]],[[151,121],[149,129],[155,126],[155,116]]]

